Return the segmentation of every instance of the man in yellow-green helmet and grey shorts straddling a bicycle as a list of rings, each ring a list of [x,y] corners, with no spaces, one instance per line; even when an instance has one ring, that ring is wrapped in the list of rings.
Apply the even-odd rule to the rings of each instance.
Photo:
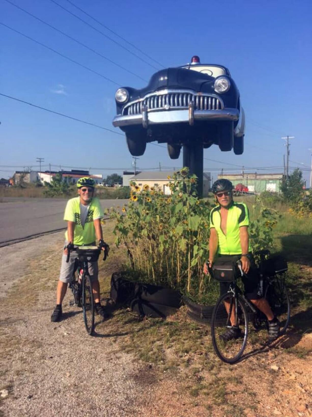
[[[51,322],[59,322],[62,318],[62,301],[67,291],[67,285],[72,280],[74,262],[77,257],[75,252],[71,252],[69,262],[67,263],[67,247],[94,245],[96,238],[99,240],[100,246],[103,247],[104,245],[101,226],[101,218],[104,214],[99,199],[93,197],[94,186],[95,182],[92,178],[79,178],[77,181],[79,196],[67,201],[64,213],[64,220],[67,221],[66,241],[59,282],[57,284],[57,304],[52,313]],[[103,306],[101,306],[99,296],[100,286],[97,262],[89,262],[88,269],[92,281],[95,310],[102,319],[105,319],[107,314]]]

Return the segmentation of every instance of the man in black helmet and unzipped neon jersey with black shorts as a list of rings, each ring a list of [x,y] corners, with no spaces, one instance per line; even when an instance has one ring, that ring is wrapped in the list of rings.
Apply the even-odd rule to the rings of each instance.
[[[227,179],[219,179],[212,186],[212,192],[215,195],[218,206],[214,207],[210,212],[208,264],[211,268],[217,256],[220,260],[233,260],[233,262],[240,259],[243,272],[246,274],[246,276],[242,277],[245,295],[266,315],[269,337],[270,339],[275,339],[279,335],[280,322],[274,317],[267,300],[263,298],[259,285],[259,274],[256,270],[249,243],[248,207],[245,203],[235,203],[233,201],[232,190],[233,184]],[[204,273],[208,273],[206,265],[204,266]],[[228,286],[228,283],[220,282],[220,294],[225,294],[228,291]],[[225,302],[225,308],[229,311],[230,304]],[[234,325],[235,323],[232,323],[232,326]],[[223,339],[227,341],[237,339],[240,336],[239,328],[230,327],[223,335]]]

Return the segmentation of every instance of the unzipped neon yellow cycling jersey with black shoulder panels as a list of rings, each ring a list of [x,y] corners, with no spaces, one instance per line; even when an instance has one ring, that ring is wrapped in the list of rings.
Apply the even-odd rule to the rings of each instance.
[[[233,203],[228,209],[226,221],[226,235],[221,229],[221,206],[214,207],[210,211],[210,229],[218,233],[218,254],[239,255],[242,253],[240,246],[240,227],[249,226],[248,207],[245,203]],[[249,244],[249,251],[251,247]]]

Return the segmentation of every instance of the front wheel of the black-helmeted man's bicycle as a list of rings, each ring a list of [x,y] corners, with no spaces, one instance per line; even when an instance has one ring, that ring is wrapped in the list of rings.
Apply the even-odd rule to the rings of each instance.
[[[228,333],[233,333],[232,339],[228,339]],[[240,296],[235,298],[232,293],[220,296],[212,314],[211,337],[215,353],[223,362],[232,364],[242,356],[247,344],[248,318]]]

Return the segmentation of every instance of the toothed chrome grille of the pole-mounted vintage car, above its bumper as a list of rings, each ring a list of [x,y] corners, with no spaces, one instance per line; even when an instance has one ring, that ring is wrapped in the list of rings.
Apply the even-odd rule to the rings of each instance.
[[[157,94],[149,94],[139,100],[126,104],[122,114],[124,116],[131,114],[141,114],[142,106],[145,104],[148,111],[155,110],[177,110],[187,109],[191,101],[194,103],[194,110],[221,110],[224,108],[222,101],[213,96],[205,94],[196,94],[195,92],[158,92]],[[170,106],[165,108],[165,106]]]

